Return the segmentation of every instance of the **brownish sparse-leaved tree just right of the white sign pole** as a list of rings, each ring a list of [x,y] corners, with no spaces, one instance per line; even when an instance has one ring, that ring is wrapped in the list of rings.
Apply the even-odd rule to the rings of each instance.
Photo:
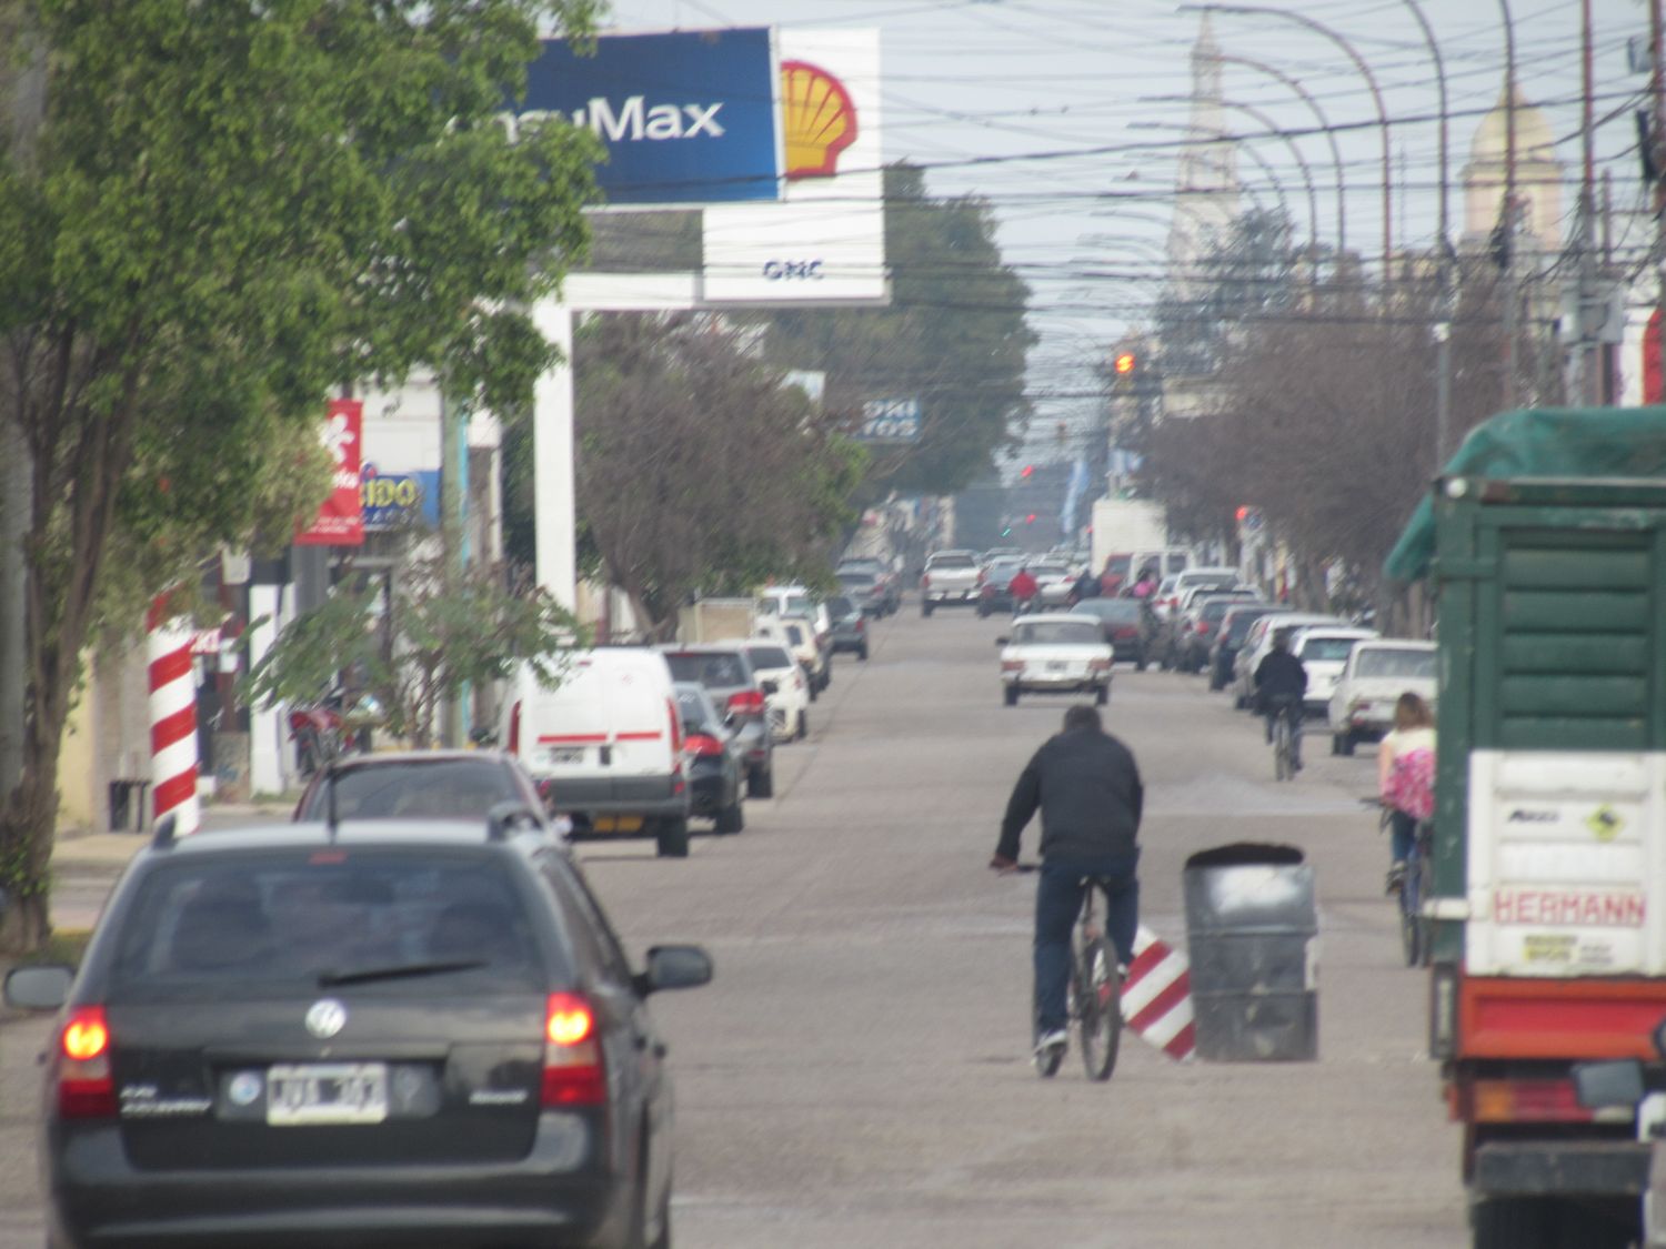
[[[578,515],[655,636],[690,595],[825,573],[853,518],[866,456],[748,338],[710,315],[616,313],[590,320],[573,348]],[[531,483],[516,476],[525,515]]]

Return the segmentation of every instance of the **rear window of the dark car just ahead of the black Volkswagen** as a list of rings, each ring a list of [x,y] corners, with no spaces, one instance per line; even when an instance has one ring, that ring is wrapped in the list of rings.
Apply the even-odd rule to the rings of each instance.
[[[297,819],[325,819],[328,786],[307,794]],[[520,801],[508,769],[495,759],[412,759],[347,768],[335,774],[337,819],[485,819]]]

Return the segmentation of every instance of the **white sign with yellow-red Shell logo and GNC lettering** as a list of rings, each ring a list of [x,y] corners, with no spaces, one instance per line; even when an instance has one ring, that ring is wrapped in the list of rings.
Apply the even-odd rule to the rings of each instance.
[[[705,211],[705,300],[880,303],[888,296],[876,30],[776,32],[780,203]]]

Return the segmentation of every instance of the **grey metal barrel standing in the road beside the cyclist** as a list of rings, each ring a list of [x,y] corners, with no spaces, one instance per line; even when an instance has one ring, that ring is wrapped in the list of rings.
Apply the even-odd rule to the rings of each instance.
[[[1319,924],[1301,851],[1206,849],[1186,859],[1181,886],[1198,1057],[1318,1057]]]

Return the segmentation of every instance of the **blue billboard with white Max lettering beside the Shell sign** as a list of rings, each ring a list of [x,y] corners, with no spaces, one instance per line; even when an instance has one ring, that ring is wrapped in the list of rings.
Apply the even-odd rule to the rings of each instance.
[[[545,40],[516,112],[595,132],[610,203],[730,203],[780,198],[775,95],[768,28],[603,35]]]

